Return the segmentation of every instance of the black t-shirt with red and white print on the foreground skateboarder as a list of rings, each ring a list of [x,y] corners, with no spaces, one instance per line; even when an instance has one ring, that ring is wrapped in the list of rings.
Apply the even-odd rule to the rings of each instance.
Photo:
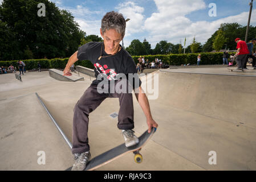
[[[99,60],[100,56],[101,58]],[[91,63],[94,65],[94,72],[96,78],[100,74],[101,76],[107,78],[109,81],[116,80],[116,76],[120,73],[123,73],[127,76],[128,79],[128,74],[132,73],[134,74],[136,79],[139,80],[139,86],[141,85],[139,75],[136,71],[135,62],[133,61],[132,56],[129,55],[129,53],[125,51],[123,47],[121,47],[121,50],[115,55],[108,55],[104,51],[103,42],[90,42],[78,48],[78,59],[91,61]],[[100,81],[101,80],[96,79],[92,81],[92,84],[97,85]],[[134,84],[133,80],[133,88],[135,88],[135,85],[136,84]]]

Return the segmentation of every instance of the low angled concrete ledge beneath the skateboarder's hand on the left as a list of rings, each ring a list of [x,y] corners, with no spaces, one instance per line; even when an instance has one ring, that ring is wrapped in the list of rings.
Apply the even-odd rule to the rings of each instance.
[[[55,78],[56,80],[59,81],[71,81],[71,82],[75,82],[75,81],[79,81],[79,80],[84,80],[83,77],[79,77],[79,76],[63,76],[63,72],[59,71],[58,69],[49,69],[49,75],[52,78]]]

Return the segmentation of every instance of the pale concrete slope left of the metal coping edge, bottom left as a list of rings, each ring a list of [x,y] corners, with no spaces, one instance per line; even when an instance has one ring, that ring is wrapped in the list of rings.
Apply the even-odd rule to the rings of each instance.
[[[70,148],[35,93],[1,100],[0,115],[0,170],[64,170],[72,165]]]

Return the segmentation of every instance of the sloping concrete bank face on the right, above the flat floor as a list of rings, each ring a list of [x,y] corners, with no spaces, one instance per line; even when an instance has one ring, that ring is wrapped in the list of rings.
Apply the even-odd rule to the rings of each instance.
[[[160,72],[158,101],[256,129],[256,77]]]

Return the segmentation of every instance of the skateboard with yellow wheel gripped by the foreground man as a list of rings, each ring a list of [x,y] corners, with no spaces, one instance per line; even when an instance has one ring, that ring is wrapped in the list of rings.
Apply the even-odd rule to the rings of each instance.
[[[121,156],[128,154],[129,152],[133,152],[134,154],[134,160],[136,163],[141,163],[143,161],[143,157],[140,154],[141,148],[149,141],[149,139],[152,137],[152,135],[156,132],[156,128],[153,127],[151,130],[151,133],[148,133],[148,130],[145,131],[140,137],[139,137],[139,143],[135,144],[131,147],[126,147],[125,143],[120,144],[120,146],[117,146],[115,148],[112,148],[111,150],[108,150],[104,152],[103,154],[100,154],[96,156],[95,158],[92,158],[86,165],[86,168],[84,171],[92,171],[94,169],[97,169],[101,166],[104,166],[105,164],[108,164],[112,162],[113,160],[120,158]],[[66,171],[71,171],[72,167],[66,169]]]

